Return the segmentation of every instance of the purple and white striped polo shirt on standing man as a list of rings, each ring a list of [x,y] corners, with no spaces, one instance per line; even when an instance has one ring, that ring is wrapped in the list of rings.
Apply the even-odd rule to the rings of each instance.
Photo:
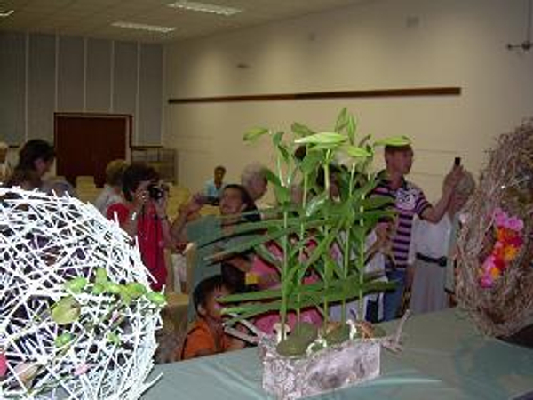
[[[409,246],[415,214],[419,217],[431,204],[426,200],[422,189],[402,178],[400,188],[391,188],[390,180],[387,180],[384,172],[379,173],[378,185],[372,194],[388,196],[394,200],[394,209],[398,213],[395,229],[392,235],[393,254],[395,265],[392,260],[386,261],[386,268],[404,269],[407,267]]]

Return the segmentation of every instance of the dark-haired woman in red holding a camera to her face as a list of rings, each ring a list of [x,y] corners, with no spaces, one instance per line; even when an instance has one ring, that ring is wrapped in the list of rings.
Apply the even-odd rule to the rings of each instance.
[[[154,277],[151,287],[161,291],[166,284],[164,248],[172,243],[166,213],[167,193],[159,185],[155,169],[132,163],[123,173],[123,202],[107,209],[107,218],[137,238],[142,260]]]

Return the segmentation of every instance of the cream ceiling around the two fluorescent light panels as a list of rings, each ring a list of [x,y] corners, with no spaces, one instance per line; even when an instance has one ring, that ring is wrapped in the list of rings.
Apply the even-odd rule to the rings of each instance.
[[[0,20],[0,28],[50,31],[61,34],[168,42],[185,37],[206,36],[231,28],[282,20],[319,12],[362,0],[199,0],[205,3],[243,8],[243,12],[224,17],[202,12],[172,9],[172,0],[0,0],[15,9],[12,17]],[[365,0],[370,1],[370,0]],[[114,28],[117,20],[176,26],[166,34]]]

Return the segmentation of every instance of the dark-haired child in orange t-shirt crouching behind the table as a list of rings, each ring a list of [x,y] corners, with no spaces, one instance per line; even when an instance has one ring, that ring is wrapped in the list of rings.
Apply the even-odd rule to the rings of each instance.
[[[195,321],[178,348],[176,360],[211,356],[244,348],[244,342],[224,332],[220,306],[217,299],[229,294],[221,276],[211,276],[195,287]]]

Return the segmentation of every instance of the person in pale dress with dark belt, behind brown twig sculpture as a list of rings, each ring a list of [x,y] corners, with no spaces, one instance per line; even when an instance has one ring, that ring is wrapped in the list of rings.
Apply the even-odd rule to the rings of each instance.
[[[426,220],[415,221],[408,268],[408,284],[412,282],[410,310],[415,314],[448,307],[447,290],[453,284],[452,259],[459,215],[474,188],[472,174],[463,172],[442,219],[436,224]]]

